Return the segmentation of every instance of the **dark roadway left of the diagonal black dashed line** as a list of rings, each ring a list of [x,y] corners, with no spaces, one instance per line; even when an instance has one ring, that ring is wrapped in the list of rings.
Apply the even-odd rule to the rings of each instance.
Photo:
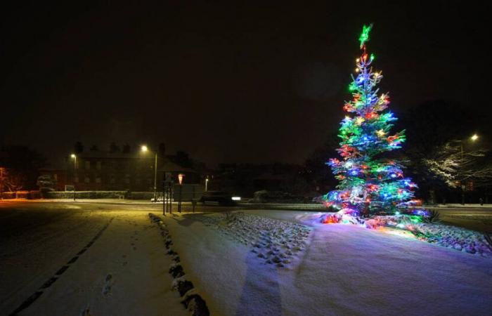
[[[7,313],[70,261],[109,218],[78,206],[63,211],[17,206],[0,209],[0,220],[0,310]]]

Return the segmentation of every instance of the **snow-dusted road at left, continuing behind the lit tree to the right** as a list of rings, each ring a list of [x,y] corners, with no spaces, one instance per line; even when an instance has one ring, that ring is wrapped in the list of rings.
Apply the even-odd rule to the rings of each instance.
[[[0,202],[0,315],[181,315],[167,274],[171,262],[149,212],[162,213],[162,204]],[[439,213],[446,223],[492,231],[492,209]]]

